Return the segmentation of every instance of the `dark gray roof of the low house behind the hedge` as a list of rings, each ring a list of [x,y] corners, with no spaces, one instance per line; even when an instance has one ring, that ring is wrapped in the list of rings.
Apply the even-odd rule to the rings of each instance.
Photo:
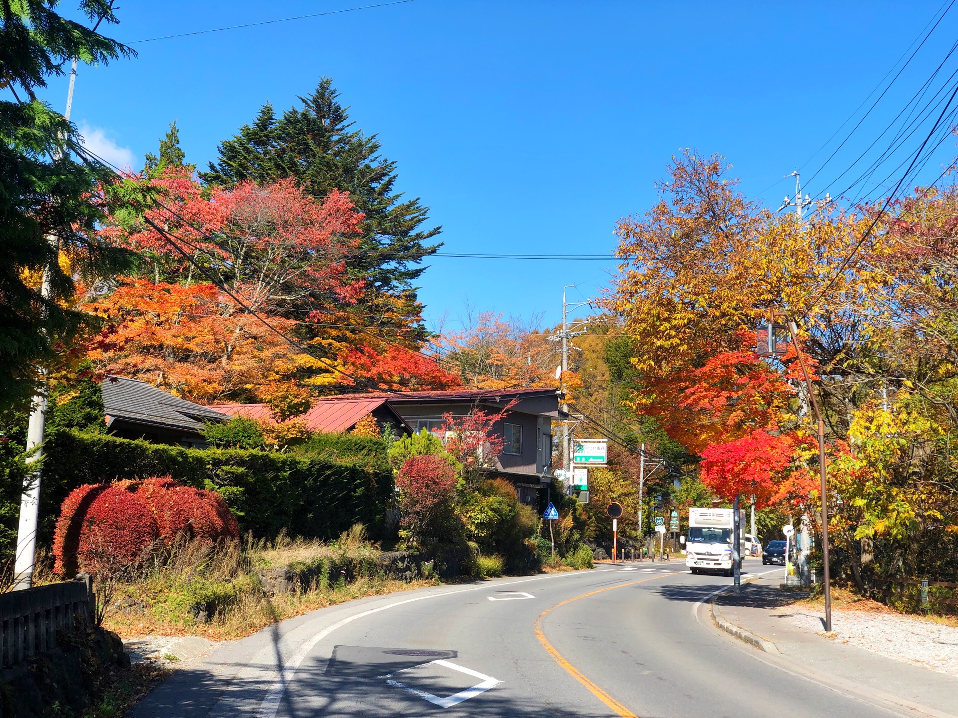
[[[230,418],[136,379],[107,376],[100,386],[104,413],[113,418],[194,433],[202,431],[204,421]]]

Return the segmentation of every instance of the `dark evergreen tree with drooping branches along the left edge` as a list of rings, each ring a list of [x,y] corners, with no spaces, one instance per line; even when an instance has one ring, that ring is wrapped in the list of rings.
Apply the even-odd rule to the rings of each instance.
[[[84,0],[93,23],[115,23],[108,0]],[[113,173],[79,160],[77,128],[36,97],[70,60],[104,65],[133,55],[115,40],[57,14],[56,2],[0,3],[0,409],[29,397],[39,364],[56,358],[97,320],[73,308],[75,279],[112,276],[130,264],[127,252],[97,233],[102,208],[90,197]],[[50,237],[56,237],[51,241]],[[69,270],[58,259],[71,258]],[[49,273],[50,296],[39,280]]]

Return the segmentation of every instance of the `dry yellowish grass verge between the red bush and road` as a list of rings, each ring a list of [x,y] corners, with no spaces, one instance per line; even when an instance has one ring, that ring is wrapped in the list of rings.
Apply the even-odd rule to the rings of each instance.
[[[147,569],[116,585],[103,625],[124,638],[152,634],[239,639],[318,608],[435,584],[362,575],[358,570],[347,582],[345,571],[327,572],[331,566],[369,566],[376,554],[358,526],[331,544],[285,535],[273,542],[247,539],[243,545],[219,547],[178,543],[157,553]],[[285,593],[266,591],[262,572],[297,566],[322,566],[322,577]]]

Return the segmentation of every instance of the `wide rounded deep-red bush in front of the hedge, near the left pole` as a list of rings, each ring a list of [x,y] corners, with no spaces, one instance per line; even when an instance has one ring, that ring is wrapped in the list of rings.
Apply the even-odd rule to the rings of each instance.
[[[63,502],[54,538],[54,572],[115,573],[145,560],[158,541],[178,536],[217,542],[238,538],[239,526],[215,491],[170,477],[93,483]]]

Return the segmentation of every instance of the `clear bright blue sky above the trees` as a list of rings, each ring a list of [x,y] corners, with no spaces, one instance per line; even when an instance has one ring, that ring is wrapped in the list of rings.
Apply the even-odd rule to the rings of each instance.
[[[375,3],[129,0],[106,34],[134,41]],[[70,7],[65,0],[62,10]],[[650,207],[654,181],[682,147],[721,153],[743,191],[777,208],[794,191],[784,175],[819,168],[851,125],[830,143],[835,130],[942,7],[416,0],[135,44],[135,59],[81,67],[73,120],[92,146],[138,168],[176,119],[188,160],[205,167],[217,142],[264,101],[283,110],[325,75],[356,125],[377,133],[399,163],[399,189],[421,197],[443,225],[444,251],[610,254],[615,221]],[[812,194],[833,187],[956,31],[958,8],[815,178]],[[62,108],[66,81],[52,82],[44,97]],[[954,153],[954,143],[941,146],[925,174],[937,175]],[[420,281],[426,318],[436,326],[445,316],[447,328],[467,304],[543,314],[552,324],[563,284],[579,285],[570,300],[594,296],[615,266],[428,263]]]

